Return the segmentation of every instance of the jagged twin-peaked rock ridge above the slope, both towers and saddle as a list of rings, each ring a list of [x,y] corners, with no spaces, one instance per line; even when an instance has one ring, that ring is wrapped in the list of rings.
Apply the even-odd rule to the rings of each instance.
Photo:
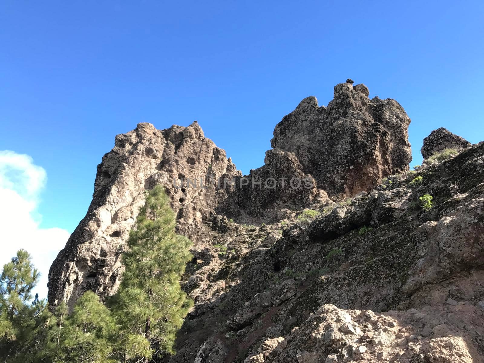
[[[410,120],[405,111],[393,100],[368,100],[363,85],[354,89],[349,83],[337,85],[328,108],[318,107],[314,97],[303,100],[276,126],[274,149],[267,151],[265,165],[245,178],[225,151],[205,138],[197,121],[166,130],[140,123],[116,136],[115,147],[98,166],[86,217],[49,271],[49,302],[55,305],[63,299],[72,306],[86,290],[101,296],[116,291],[128,232],[145,190],[156,183],[165,186],[178,211],[179,232],[195,239],[198,251],[204,247],[197,240],[213,218],[274,221],[280,210],[328,201],[326,191],[353,194],[408,167]],[[306,130],[304,122],[320,126]],[[284,126],[288,123],[314,137],[289,135]],[[307,145],[304,149],[306,142],[313,143],[314,150]],[[316,150],[327,154],[315,154]],[[334,168],[335,179],[330,178],[330,169],[321,167]]]

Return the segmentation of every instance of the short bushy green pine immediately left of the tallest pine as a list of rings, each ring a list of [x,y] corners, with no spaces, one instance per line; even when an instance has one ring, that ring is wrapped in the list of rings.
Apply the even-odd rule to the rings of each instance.
[[[65,308],[59,312],[62,320]],[[92,291],[77,300],[73,313],[59,325],[55,362],[114,363],[118,328],[109,309]]]

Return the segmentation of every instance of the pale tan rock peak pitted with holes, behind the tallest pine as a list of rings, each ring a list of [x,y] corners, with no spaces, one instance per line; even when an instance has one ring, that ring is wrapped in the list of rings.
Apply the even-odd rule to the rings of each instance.
[[[86,290],[102,297],[117,290],[129,230],[144,204],[145,191],[157,183],[165,187],[178,211],[179,231],[197,238],[216,201],[214,185],[199,187],[207,174],[241,175],[225,151],[204,137],[197,121],[166,130],[139,123],[135,130],[116,136],[115,147],[97,167],[86,217],[49,271],[49,302],[65,300],[72,307]],[[197,181],[198,187],[186,187],[187,178]],[[177,188],[181,180],[185,187]]]

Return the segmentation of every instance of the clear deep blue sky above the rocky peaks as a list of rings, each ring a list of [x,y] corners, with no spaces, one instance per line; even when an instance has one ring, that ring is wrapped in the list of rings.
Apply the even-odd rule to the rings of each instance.
[[[198,120],[247,173],[302,98],[327,105],[351,77],[406,109],[420,164],[438,127],[484,139],[483,15],[482,1],[2,1],[0,150],[45,169],[39,227],[72,232],[116,134]]]

